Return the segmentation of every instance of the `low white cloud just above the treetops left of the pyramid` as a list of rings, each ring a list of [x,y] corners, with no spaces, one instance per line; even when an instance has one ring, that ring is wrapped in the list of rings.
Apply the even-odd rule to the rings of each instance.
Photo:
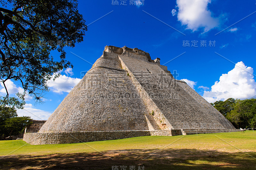
[[[32,104],[25,104],[24,109],[17,109],[18,116],[30,116],[34,120],[47,120],[52,112],[35,109]]]

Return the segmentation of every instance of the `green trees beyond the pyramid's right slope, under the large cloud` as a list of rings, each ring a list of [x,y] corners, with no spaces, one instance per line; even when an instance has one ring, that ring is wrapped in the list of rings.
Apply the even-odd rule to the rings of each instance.
[[[236,128],[256,128],[256,99],[228,98],[211,104]]]

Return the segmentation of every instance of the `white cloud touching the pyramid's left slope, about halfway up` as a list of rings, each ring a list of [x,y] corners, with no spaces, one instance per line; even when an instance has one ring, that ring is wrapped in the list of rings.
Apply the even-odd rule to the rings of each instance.
[[[70,92],[79,81],[81,81],[79,78],[60,75],[55,81],[49,80],[48,86],[53,92],[62,94],[63,92]]]

